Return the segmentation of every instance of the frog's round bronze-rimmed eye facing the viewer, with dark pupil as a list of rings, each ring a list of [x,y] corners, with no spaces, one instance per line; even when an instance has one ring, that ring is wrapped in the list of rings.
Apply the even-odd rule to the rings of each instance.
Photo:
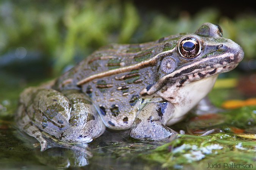
[[[201,46],[195,38],[188,37],[179,43],[179,53],[182,57],[190,59],[201,53]]]

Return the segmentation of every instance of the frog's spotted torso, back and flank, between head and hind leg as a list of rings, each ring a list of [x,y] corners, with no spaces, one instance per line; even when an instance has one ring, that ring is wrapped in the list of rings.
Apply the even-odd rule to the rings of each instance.
[[[105,46],[60,77],[57,85],[60,90],[82,87],[82,91],[99,108],[107,127],[128,129],[135,119],[137,108],[144,101],[140,91],[150,87],[157,79],[157,65],[150,60],[174,48],[179,37],[170,36],[142,44]]]

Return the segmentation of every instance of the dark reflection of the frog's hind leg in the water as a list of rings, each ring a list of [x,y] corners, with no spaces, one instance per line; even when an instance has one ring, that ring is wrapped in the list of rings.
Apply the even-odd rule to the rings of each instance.
[[[52,139],[47,140],[47,149],[40,151],[40,145],[34,138],[25,133],[18,131],[18,137],[26,143],[36,147],[35,156],[38,161],[49,167],[65,169],[68,167],[83,167],[88,164],[88,158],[92,157],[92,153],[88,151],[88,144],[70,145],[64,142],[56,142]]]

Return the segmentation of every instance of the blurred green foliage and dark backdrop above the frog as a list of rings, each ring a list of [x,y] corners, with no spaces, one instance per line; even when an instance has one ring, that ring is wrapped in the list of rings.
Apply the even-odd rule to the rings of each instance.
[[[217,23],[256,69],[256,14],[250,4],[204,1],[1,0],[0,70],[55,77],[108,43],[141,43]]]

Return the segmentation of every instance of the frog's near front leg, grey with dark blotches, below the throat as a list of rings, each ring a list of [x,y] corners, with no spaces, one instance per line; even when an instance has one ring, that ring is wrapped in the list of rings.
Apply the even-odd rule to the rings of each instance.
[[[168,139],[176,131],[165,126],[170,119],[173,105],[168,102],[149,102],[138,113],[132,124],[130,136],[135,139]]]

